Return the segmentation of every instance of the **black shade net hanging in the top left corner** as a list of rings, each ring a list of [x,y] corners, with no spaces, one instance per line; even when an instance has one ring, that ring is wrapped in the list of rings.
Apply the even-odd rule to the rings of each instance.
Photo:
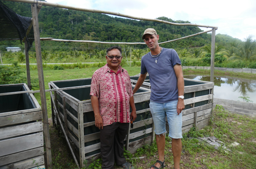
[[[33,27],[28,36],[26,32],[31,21],[32,18],[18,15],[0,1],[0,40],[20,39],[22,44],[22,40],[26,37],[30,50],[34,41]]]

